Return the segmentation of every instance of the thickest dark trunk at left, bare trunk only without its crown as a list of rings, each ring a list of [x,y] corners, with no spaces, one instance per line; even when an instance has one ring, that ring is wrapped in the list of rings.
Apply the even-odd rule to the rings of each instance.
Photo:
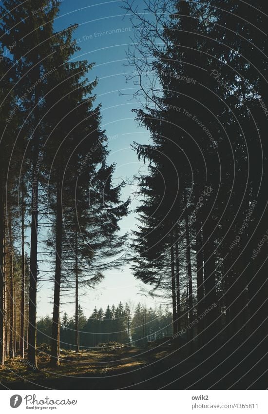
[[[40,71],[38,65],[36,66],[36,79],[40,78]],[[35,109],[34,117],[38,123],[39,94],[38,86],[35,89]],[[36,125],[38,128],[38,124]],[[36,131],[33,136],[34,150],[33,150],[33,171],[32,171],[32,205],[31,205],[31,252],[30,252],[30,286],[29,286],[29,321],[28,321],[28,370],[37,368],[37,327],[36,327],[36,313],[37,313],[37,275],[38,275],[38,154],[39,154],[39,136]]]

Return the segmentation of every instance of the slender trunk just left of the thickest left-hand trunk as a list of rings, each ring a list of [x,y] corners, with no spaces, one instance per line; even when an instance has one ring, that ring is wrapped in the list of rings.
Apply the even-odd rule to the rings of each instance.
[[[24,358],[24,311],[25,311],[25,258],[24,258],[24,182],[21,194],[21,287],[20,287],[20,334],[19,354]]]

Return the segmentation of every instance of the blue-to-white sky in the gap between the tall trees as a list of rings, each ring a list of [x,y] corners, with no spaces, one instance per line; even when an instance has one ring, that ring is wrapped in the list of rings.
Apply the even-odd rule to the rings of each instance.
[[[142,6],[143,0],[139,0]],[[55,29],[63,30],[71,24],[77,23],[75,39],[81,50],[75,59],[87,59],[95,62],[95,66],[88,74],[89,80],[98,78],[98,85],[94,92],[97,95],[96,104],[102,103],[102,127],[109,137],[110,155],[108,161],[116,163],[115,180],[124,178],[133,182],[133,177],[140,169],[145,170],[143,161],[139,161],[131,149],[133,141],[148,142],[150,135],[145,129],[138,127],[134,120],[133,108],[139,104],[124,94],[132,94],[135,86],[126,82],[125,73],[131,72],[127,64],[126,49],[133,34],[132,25],[121,8],[122,1],[98,1],[87,4],[86,0],[63,0],[60,14],[55,21]],[[122,94],[119,94],[120,91]],[[127,185],[123,198],[134,198],[135,186]],[[132,213],[121,221],[123,232],[134,229],[136,214],[134,209],[137,201],[131,204]],[[131,300],[135,304],[141,301],[154,306],[155,301],[140,295],[140,287],[145,285],[137,281],[131,273],[130,263],[121,271],[109,271],[104,281],[94,291],[87,291],[80,296],[80,304],[85,315],[89,316],[94,307],[105,309],[108,304],[117,305]],[[38,318],[52,313],[52,283],[44,282],[38,291]],[[74,314],[74,303],[65,303],[72,300],[69,296],[62,297],[61,314],[66,310],[69,315]],[[160,303],[157,300],[157,303]]]

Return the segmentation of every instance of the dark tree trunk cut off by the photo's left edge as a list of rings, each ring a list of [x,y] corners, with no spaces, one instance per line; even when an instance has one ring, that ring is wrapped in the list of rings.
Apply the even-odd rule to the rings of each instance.
[[[4,269],[4,194],[0,188],[0,364],[4,364],[5,355],[5,269]]]

